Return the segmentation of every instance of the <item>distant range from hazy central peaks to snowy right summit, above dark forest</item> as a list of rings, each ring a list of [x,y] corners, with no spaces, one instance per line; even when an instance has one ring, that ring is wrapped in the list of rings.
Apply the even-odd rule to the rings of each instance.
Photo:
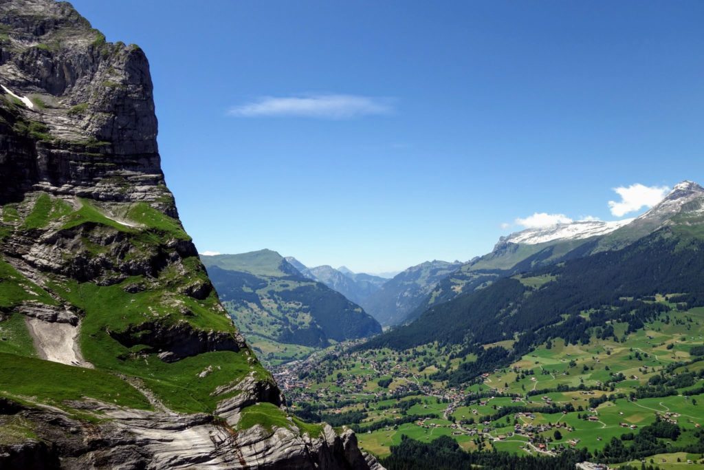
[[[318,281],[358,304],[382,326],[396,326],[419,318],[435,305],[483,289],[500,278],[625,247],[662,225],[672,223],[675,212],[696,206],[702,191],[696,183],[684,181],[660,204],[638,218],[529,228],[501,237],[489,254],[466,263],[426,261],[391,279],[354,273],[345,266],[309,268],[292,256],[284,261],[289,270],[293,268],[304,278]]]

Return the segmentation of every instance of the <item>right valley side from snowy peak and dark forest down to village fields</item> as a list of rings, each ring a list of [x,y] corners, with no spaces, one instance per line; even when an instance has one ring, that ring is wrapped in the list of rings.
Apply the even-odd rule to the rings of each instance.
[[[466,458],[704,466],[703,194],[684,182],[634,221],[501,240],[406,323],[277,366],[289,410],[391,466],[443,439]]]

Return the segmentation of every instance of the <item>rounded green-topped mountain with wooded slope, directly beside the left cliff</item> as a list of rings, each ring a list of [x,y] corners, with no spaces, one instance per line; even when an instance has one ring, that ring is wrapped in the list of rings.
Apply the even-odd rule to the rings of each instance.
[[[201,255],[234,323],[256,350],[270,342],[327,347],[381,333],[379,323],[339,292],[310,280],[269,249]]]

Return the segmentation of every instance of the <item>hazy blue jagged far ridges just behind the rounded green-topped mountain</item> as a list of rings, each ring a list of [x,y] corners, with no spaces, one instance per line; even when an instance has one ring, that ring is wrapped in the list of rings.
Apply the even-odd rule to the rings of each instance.
[[[292,256],[286,260],[306,278],[318,280],[362,307],[365,306],[367,298],[388,280],[371,274],[353,273],[345,266],[339,269],[327,265],[308,268]]]

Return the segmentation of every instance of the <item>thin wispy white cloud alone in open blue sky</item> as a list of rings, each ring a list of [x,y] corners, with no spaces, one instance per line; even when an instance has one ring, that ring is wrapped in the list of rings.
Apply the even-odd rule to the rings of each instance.
[[[389,99],[353,94],[310,94],[298,97],[262,97],[251,103],[234,106],[230,116],[303,116],[306,118],[345,119],[374,114],[389,114]]]

